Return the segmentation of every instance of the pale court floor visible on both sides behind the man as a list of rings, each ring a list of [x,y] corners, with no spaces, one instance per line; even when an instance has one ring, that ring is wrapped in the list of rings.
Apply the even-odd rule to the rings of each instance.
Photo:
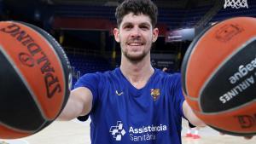
[[[56,121],[35,135],[20,140],[0,140],[0,144],[90,144],[90,122],[77,120]],[[256,136],[251,140],[231,135],[219,135],[211,128],[200,130],[201,139],[184,137],[188,123],[183,121],[183,144],[256,144]]]

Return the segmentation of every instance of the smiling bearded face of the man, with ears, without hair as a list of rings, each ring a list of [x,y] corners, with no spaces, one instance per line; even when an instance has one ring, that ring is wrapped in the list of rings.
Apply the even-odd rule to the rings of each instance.
[[[156,41],[158,32],[148,16],[133,13],[126,14],[119,28],[113,30],[116,41],[121,45],[122,57],[132,62],[150,58],[151,45]]]

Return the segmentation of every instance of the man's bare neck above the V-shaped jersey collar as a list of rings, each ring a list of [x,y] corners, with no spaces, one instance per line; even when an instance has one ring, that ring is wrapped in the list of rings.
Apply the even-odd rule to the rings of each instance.
[[[121,72],[134,87],[137,89],[143,88],[154,73],[154,68],[151,66],[150,62],[150,55],[137,62],[131,62],[127,60],[124,55],[122,56]]]

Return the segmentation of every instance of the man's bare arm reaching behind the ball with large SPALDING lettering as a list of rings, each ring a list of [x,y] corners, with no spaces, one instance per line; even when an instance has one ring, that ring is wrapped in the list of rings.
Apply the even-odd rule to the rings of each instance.
[[[80,87],[73,89],[67,101],[66,107],[61,112],[58,120],[71,120],[80,115],[86,115],[92,107],[92,94],[90,89]]]

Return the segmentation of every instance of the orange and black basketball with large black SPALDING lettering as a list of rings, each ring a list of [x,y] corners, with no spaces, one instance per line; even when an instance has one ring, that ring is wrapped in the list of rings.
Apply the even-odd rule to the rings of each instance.
[[[71,84],[70,65],[47,32],[0,22],[0,138],[37,133],[60,114]]]

